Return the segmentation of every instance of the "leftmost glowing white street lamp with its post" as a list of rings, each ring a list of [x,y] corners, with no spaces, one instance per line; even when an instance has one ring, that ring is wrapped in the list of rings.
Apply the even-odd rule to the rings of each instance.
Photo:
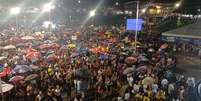
[[[16,30],[18,31],[18,14],[20,14],[21,8],[20,7],[13,7],[10,9],[10,13],[15,15],[15,23],[16,23]]]

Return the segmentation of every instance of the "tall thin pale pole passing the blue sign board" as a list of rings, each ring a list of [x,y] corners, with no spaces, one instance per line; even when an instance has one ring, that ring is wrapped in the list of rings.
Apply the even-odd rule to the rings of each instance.
[[[139,4],[140,4],[140,1],[137,1],[136,25],[135,25],[135,27],[136,27],[136,30],[135,30],[135,53],[137,53]]]

